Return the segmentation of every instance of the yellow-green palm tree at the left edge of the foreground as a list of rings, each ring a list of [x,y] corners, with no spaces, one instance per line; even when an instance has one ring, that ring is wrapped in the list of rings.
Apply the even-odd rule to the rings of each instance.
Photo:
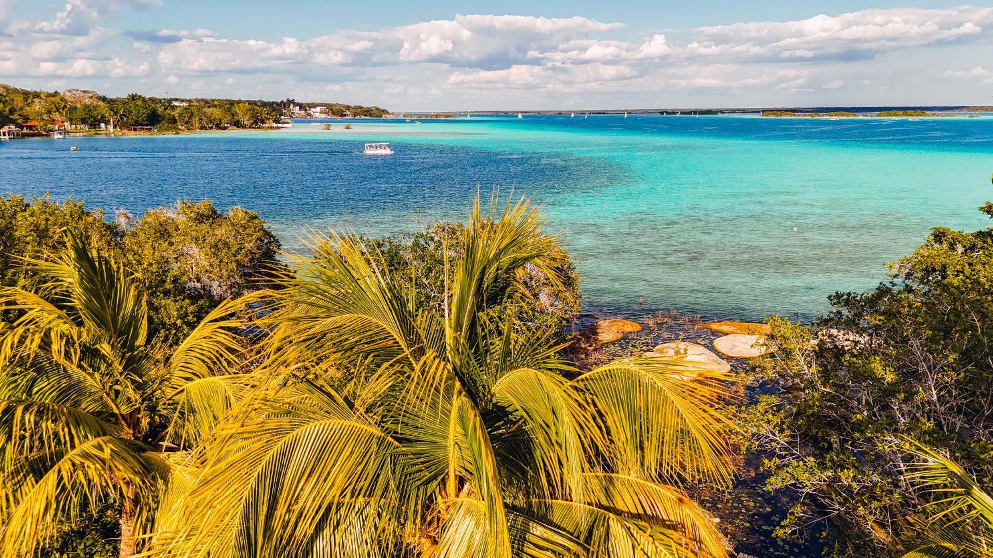
[[[120,555],[138,549],[156,505],[182,487],[182,453],[229,406],[240,350],[219,305],[174,349],[148,338],[136,281],[71,239],[32,265],[49,280],[0,289],[0,555],[35,555],[85,509],[115,501]]]

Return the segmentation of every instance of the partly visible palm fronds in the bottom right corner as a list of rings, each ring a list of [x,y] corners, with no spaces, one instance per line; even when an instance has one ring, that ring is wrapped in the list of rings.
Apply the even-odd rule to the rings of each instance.
[[[907,479],[937,499],[934,514],[922,521],[917,545],[904,558],[993,557],[993,496],[958,464],[911,442],[921,460],[909,466]]]

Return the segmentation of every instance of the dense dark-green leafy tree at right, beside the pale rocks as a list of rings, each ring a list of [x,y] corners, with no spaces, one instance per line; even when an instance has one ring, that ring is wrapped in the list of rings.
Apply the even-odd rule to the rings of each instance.
[[[902,552],[921,510],[894,482],[908,459],[894,439],[993,482],[993,229],[935,228],[893,279],[834,295],[812,327],[772,320],[774,352],[755,376],[781,391],[743,415],[770,453],[770,488],[801,496],[780,534],[827,521],[839,556]]]

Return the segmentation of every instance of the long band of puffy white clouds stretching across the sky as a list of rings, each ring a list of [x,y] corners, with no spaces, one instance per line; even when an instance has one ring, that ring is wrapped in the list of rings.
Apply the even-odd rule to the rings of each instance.
[[[10,3],[0,0],[0,18]],[[655,98],[649,95],[669,91],[837,95],[832,91],[847,94],[868,86],[865,77],[872,70],[844,70],[864,66],[850,61],[900,50],[936,53],[923,49],[981,40],[993,26],[993,8],[963,6],[863,10],[640,37],[626,35],[616,22],[515,15],[456,15],[378,31],[343,29],[317,38],[265,41],[225,38],[205,29],[102,27],[118,10],[154,3],[68,0],[47,21],[11,23],[10,41],[0,32],[0,78],[155,75],[158,83],[189,92],[222,93],[236,85],[282,94],[287,86],[307,83],[318,95],[367,96],[372,90],[410,98],[461,98],[458,91],[467,88],[480,91],[479,98],[492,98],[487,91],[505,98],[513,98],[513,91],[548,93],[548,98],[565,98],[552,95],[563,92],[574,93],[572,98],[601,92]],[[865,68],[879,70],[871,65],[883,62],[868,64]],[[890,71],[874,81],[904,79],[899,64],[886,68]],[[982,67],[936,72],[942,70],[949,70],[943,73],[947,77],[993,82]]]

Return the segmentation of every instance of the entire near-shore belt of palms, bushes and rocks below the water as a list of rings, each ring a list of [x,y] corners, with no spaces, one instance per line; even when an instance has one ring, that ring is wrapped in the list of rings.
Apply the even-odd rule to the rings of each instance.
[[[993,227],[810,323],[579,320],[526,200],[280,257],[246,209],[8,196],[0,253],[4,555],[993,546]]]

